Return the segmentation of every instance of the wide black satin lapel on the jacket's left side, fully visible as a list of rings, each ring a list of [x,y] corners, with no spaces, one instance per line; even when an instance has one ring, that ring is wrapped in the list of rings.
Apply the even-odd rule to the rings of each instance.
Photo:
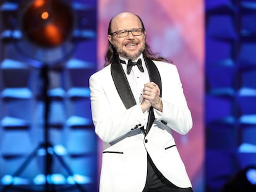
[[[111,75],[116,86],[116,90],[124,103],[126,109],[135,106],[136,101],[132,90],[130,90],[129,83],[126,78],[126,74],[122,69],[120,61],[117,57],[114,58],[113,64],[111,64]]]

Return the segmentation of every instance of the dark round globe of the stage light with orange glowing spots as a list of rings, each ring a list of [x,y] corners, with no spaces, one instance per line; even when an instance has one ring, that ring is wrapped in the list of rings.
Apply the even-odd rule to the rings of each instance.
[[[27,40],[43,48],[54,48],[69,38],[74,18],[63,0],[33,0],[22,9],[20,28]]]

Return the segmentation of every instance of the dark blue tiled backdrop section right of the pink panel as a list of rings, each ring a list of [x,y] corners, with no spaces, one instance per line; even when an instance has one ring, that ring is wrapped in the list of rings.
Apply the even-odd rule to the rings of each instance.
[[[256,191],[255,7],[205,1],[207,192]]]

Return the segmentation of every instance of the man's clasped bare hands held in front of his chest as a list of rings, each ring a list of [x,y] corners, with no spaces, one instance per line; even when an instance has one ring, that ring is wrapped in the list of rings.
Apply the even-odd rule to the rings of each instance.
[[[142,111],[147,111],[151,106],[158,111],[163,111],[163,104],[160,98],[160,89],[153,81],[144,84],[142,92]]]

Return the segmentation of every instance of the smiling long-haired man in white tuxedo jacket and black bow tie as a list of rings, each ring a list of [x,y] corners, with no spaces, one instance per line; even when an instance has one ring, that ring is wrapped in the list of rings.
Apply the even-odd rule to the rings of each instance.
[[[138,15],[116,15],[105,67],[90,77],[93,123],[103,141],[101,192],[192,191],[172,136],[192,128],[179,74],[145,39]]]

